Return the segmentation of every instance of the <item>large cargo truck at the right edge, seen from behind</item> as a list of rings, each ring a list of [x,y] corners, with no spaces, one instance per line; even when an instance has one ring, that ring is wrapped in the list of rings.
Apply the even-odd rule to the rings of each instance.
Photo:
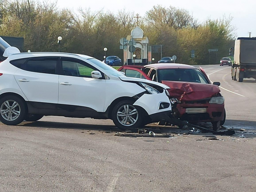
[[[231,76],[238,82],[244,78],[256,79],[256,38],[239,37],[235,41]]]

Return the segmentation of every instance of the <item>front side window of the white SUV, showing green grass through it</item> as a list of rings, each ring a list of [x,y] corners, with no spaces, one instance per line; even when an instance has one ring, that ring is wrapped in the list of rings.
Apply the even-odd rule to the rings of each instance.
[[[91,72],[95,71],[88,66],[73,61],[62,61],[63,75],[91,78]]]

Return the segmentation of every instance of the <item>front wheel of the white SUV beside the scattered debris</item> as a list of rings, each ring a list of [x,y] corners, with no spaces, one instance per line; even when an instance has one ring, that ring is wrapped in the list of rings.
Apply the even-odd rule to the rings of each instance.
[[[112,120],[118,128],[122,130],[127,130],[127,129],[135,129],[142,125],[143,111],[139,107],[134,106],[133,103],[134,102],[131,100],[124,100],[124,101],[118,102],[114,106],[112,111]],[[136,112],[137,113],[131,116],[129,115],[128,117],[127,114],[130,113],[131,111],[134,111],[133,113],[136,113]],[[120,116],[117,116],[118,114]]]

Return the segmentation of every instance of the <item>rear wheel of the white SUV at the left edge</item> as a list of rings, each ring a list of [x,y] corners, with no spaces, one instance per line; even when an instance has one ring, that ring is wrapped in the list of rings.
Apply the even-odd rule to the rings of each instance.
[[[26,103],[19,97],[7,95],[0,99],[0,121],[2,123],[6,125],[17,125],[24,120],[26,115]]]

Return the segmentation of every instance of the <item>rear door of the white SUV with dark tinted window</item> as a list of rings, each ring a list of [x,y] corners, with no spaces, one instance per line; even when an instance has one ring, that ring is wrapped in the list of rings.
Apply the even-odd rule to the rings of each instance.
[[[13,65],[19,60],[11,61]],[[58,57],[33,57],[23,59],[14,78],[28,101],[58,103]]]

